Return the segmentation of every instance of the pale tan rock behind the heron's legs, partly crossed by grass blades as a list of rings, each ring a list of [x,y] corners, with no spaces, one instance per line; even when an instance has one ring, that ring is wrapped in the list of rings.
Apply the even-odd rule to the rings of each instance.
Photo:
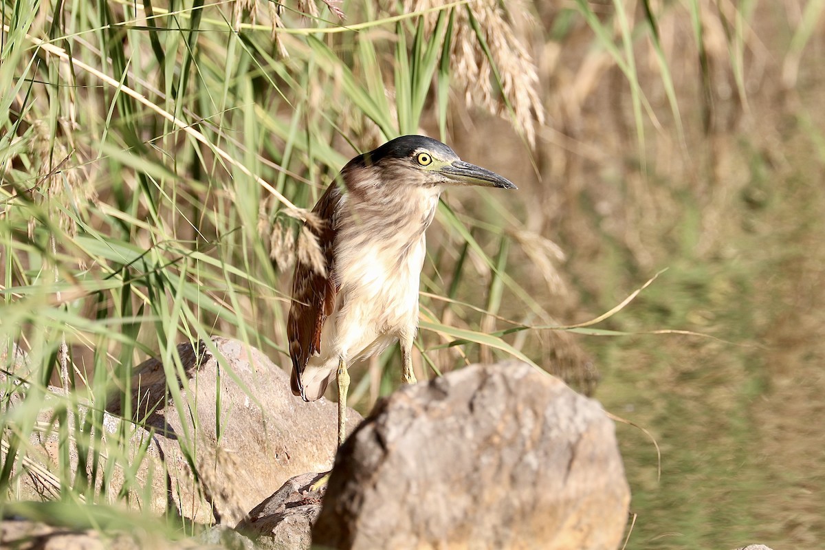
[[[167,487],[177,488],[171,504],[182,516],[234,525],[290,477],[331,467],[336,403],[301,401],[289,375],[241,341],[213,338],[197,350],[183,344],[178,354],[182,402],[172,399],[163,364],[153,359],[135,369],[131,410],[157,430]],[[122,414],[123,404],[115,399],[106,408]],[[361,416],[349,410],[347,421],[353,430]]]

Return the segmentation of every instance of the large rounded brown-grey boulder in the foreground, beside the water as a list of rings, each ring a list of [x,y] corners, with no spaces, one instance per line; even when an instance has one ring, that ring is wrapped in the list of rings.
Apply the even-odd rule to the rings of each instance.
[[[527,364],[380,402],[339,450],[313,544],[618,548],[629,487],[599,404]]]

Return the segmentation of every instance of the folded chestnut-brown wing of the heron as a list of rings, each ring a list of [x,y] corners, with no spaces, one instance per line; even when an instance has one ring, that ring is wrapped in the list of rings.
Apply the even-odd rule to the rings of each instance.
[[[341,201],[341,190],[333,181],[313,209],[323,220],[323,226],[316,228],[307,223],[309,230],[318,238],[326,259],[326,275],[318,273],[312,266],[302,261],[295,262],[295,278],[292,282],[292,305],[286,325],[292,357],[292,393],[304,397],[301,374],[309,358],[321,350],[321,329],[323,322],[335,308],[337,288],[335,270],[335,213]]]

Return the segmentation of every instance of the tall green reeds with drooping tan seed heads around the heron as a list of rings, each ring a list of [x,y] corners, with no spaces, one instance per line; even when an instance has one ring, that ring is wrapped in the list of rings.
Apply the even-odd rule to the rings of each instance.
[[[140,421],[106,429],[103,412],[113,392],[131,393],[148,356],[163,361],[175,399],[181,341],[232,336],[289,365],[291,262],[317,247],[300,227],[348,157],[425,120],[448,139],[461,101],[450,91],[470,98],[477,82],[488,82],[488,109],[535,139],[535,71],[525,50],[505,49],[519,43],[493,4],[345,11],[346,21],[312,2],[3,3],[3,503],[27,476],[70,502],[151,490],[135,477],[148,444],[134,447]],[[504,289],[550,318],[505,273],[504,224],[468,211],[439,214],[427,289],[450,284],[454,300],[447,324],[443,303],[423,299],[422,374],[479,346],[530,361],[488,334]],[[459,250],[471,262],[456,262]],[[486,313],[456,292],[474,294],[479,274]],[[456,338],[476,350],[431,350]],[[394,383],[396,361],[372,378]],[[194,463],[194,442],[181,440]]]

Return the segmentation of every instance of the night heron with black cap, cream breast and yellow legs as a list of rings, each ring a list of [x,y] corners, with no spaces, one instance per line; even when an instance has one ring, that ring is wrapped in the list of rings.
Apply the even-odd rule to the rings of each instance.
[[[313,209],[309,224],[325,269],[295,266],[287,326],[292,392],[320,398],[338,382],[338,444],[345,437],[347,365],[401,342],[404,383],[415,383],[411,352],[418,327],[424,233],[448,186],[516,189],[462,161],[444,143],[405,135],[347,162]]]

